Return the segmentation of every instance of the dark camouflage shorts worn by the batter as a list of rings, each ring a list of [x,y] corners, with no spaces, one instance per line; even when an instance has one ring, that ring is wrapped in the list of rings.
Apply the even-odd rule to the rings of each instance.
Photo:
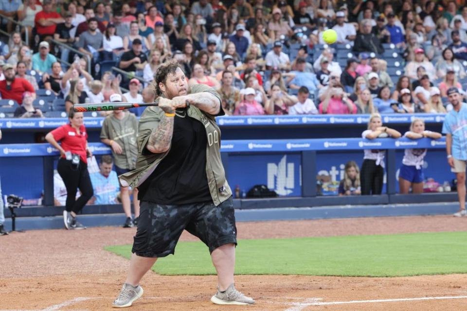
[[[184,205],[142,201],[131,251],[141,257],[174,254],[183,229],[204,242],[210,252],[224,244],[236,245],[237,229],[232,197],[217,207],[212,201]]]

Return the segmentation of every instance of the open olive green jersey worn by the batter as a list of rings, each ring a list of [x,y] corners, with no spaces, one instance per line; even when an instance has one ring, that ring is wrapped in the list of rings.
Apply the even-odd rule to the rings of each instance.
[[[190,93],[210,92],[219,98],[219,94],[209,86],[194,85]],[[220,101],[220,99],[219,99]],[[188,107],[188,116],[204,124],[208,144],[206,146],[206,176],[209,190],[214,204],[217,206],[232,196],[232,190],[225,178],[224,167],[220,157],[220,129],[216,118],[191,105]],[[161,154],[151,153],[146,149],[147,141],[154,128],[156,128],[164,115],[164,111],[157,106],[147,107],[140,118],[138,129],[138,158],[136,169],[119,176],[123,187],[140,186],[156,169],[170,149]],[[177,118],[177,117],[175,117]]]

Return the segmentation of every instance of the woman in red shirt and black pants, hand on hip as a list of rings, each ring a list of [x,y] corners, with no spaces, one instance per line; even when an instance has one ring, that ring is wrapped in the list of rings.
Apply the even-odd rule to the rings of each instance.
[[[87,157],[92,156],[88,149],[88,133],[83,122],[83,113],[68,113],[70,124],[62,125],[45,136],[45,139],[58,151],[57,171],[67,188],[66,208],[63,211],[63,221],[67,229],[85,229],[76,221],[76,214],[86,205],[92,197],[92,184],[88,173]],[[57,141],[61,142],[61,145]],[[76,189],[79,188],[81,196],[76,199]]]

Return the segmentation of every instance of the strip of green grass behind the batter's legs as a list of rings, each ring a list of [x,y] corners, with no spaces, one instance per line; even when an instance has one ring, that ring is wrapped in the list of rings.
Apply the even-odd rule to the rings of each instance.
[[[130,258],[131,245],[106,247]],[[467,273],[467,232],[240,240],[237,275],[415,276]],[[179,242],[161,275],[212,275],[202,242]]]

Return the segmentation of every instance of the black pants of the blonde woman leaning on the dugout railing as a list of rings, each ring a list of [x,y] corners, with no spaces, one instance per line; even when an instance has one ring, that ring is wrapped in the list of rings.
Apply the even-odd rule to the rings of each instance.
[[[376,160],[364,159],[360,170],[361,194],[381,194],[384,169],[376,165]]]

